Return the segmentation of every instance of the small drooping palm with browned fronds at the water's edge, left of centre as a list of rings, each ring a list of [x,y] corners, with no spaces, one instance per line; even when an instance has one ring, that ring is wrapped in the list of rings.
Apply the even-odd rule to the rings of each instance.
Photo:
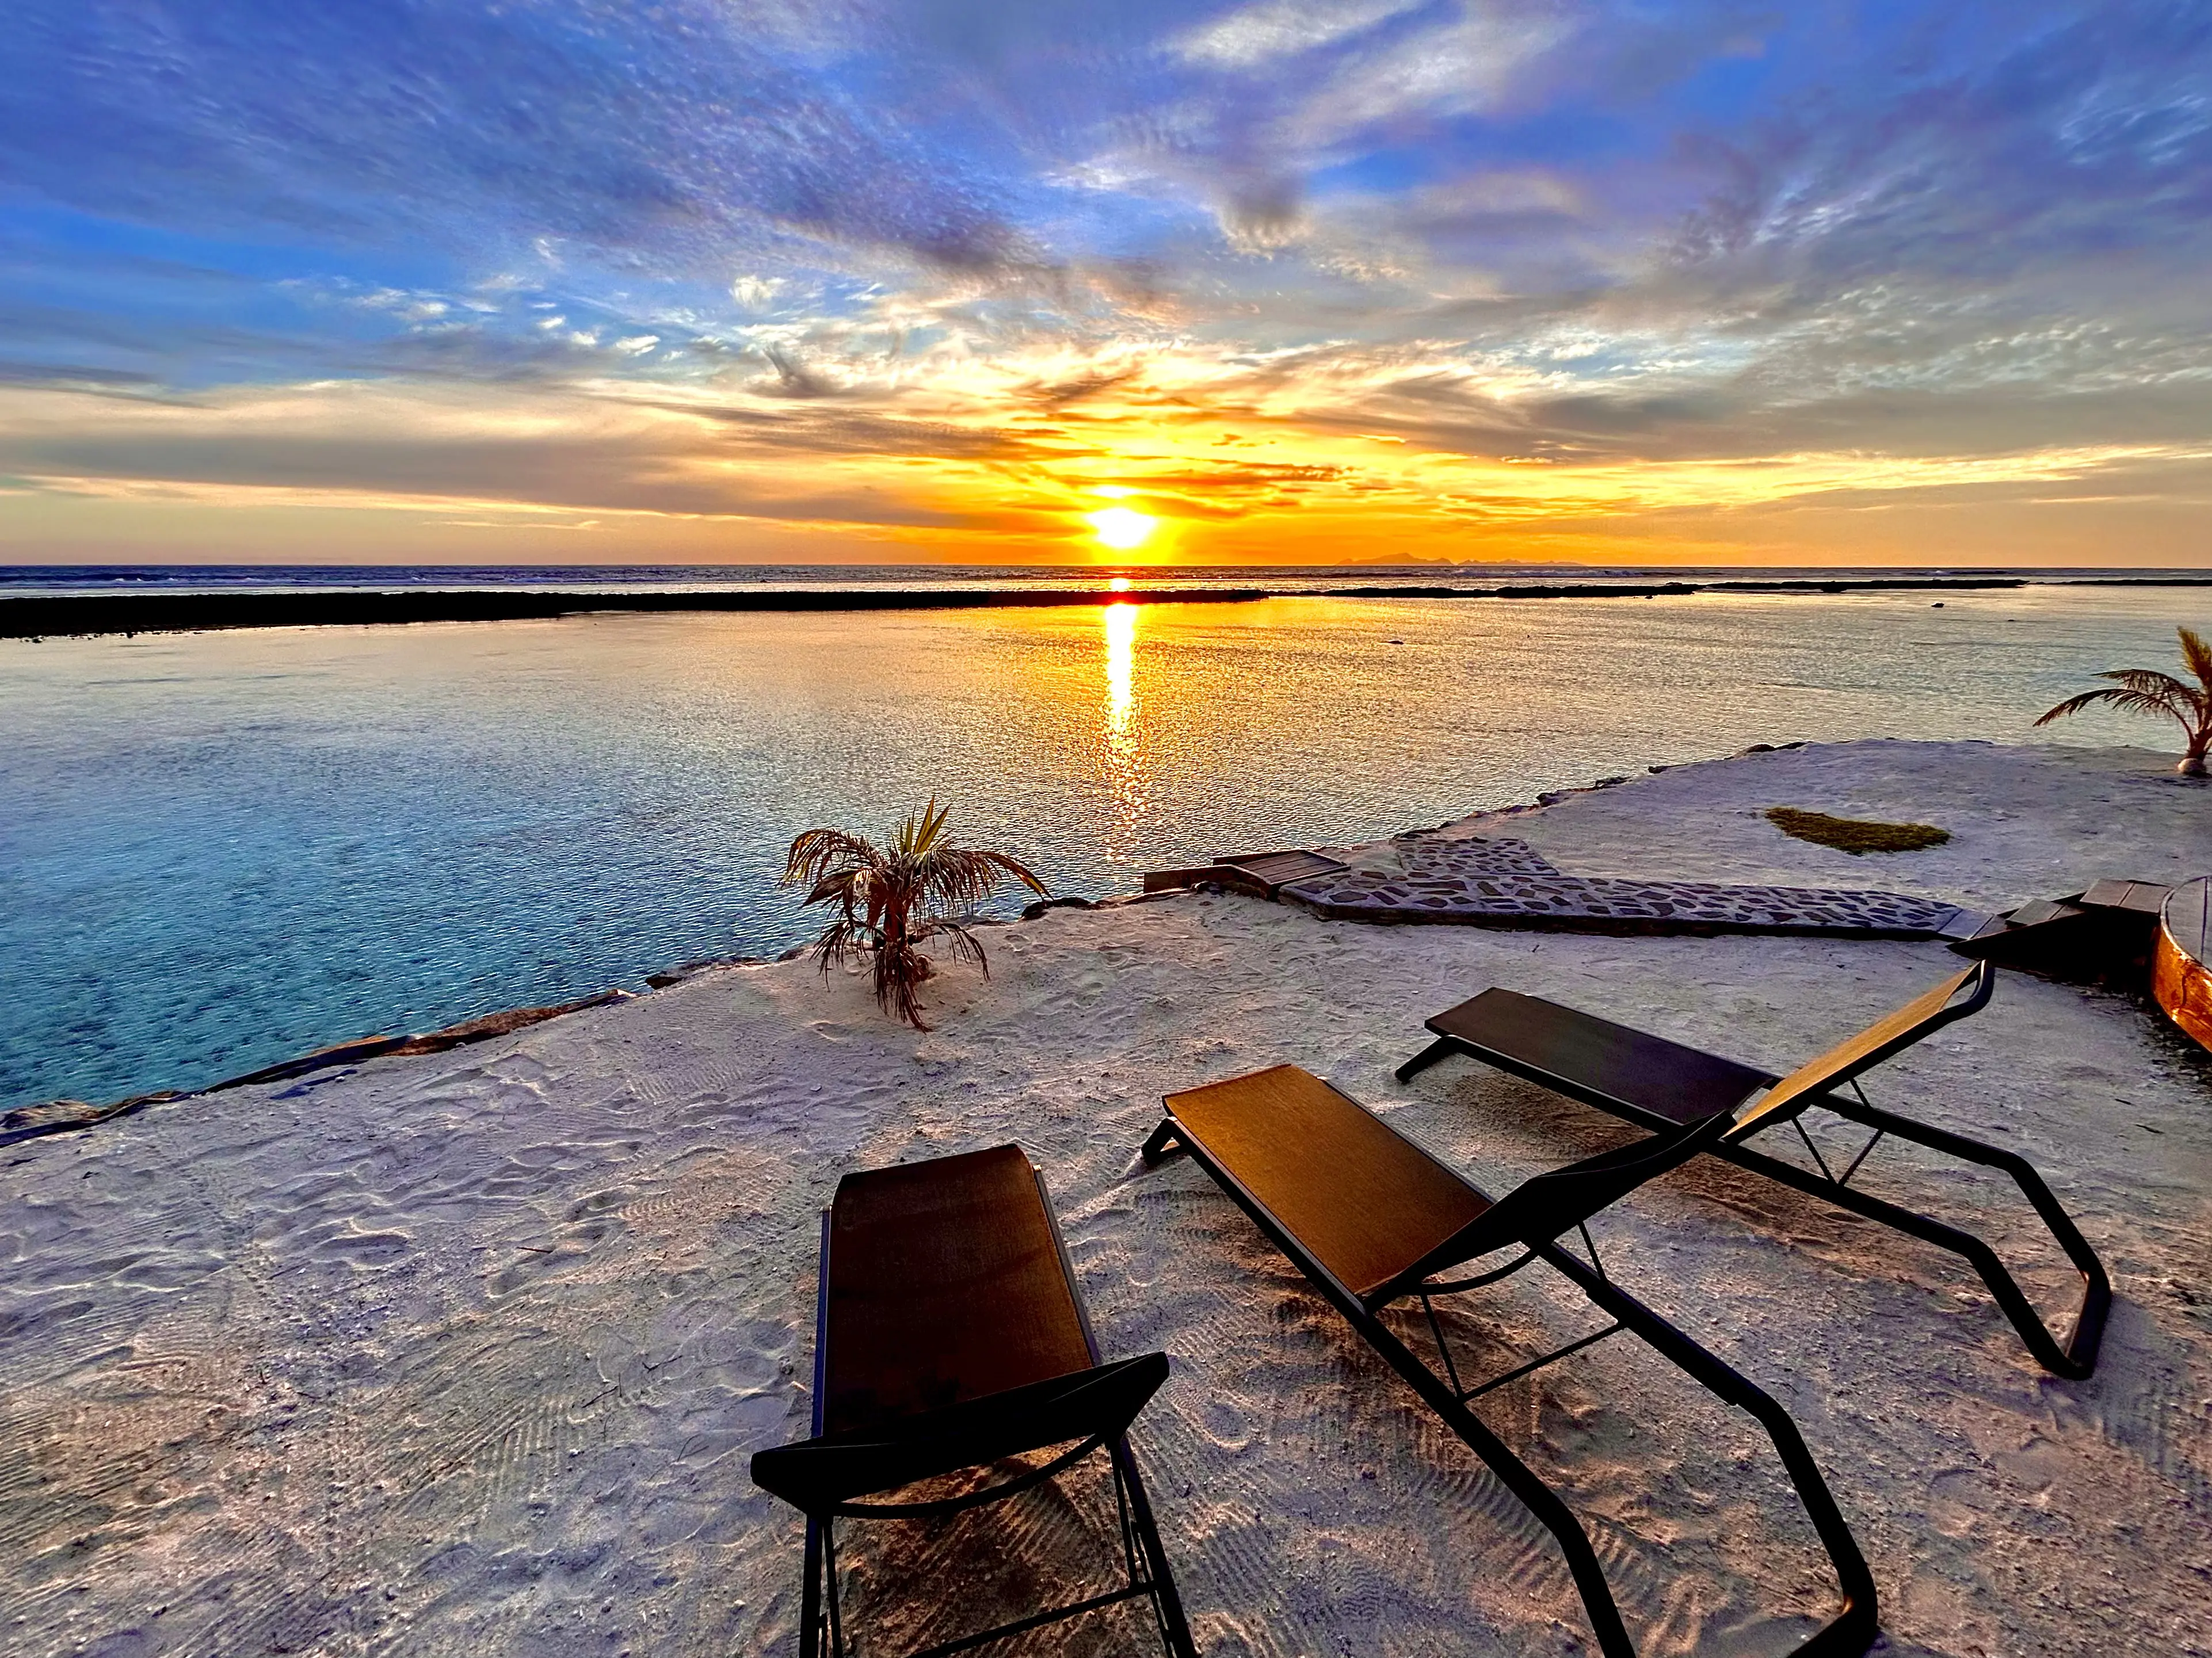
[[[876,1004],[916,1030],[929,1030],[914,995],[931,973],[925,940],[951,940],[953,955],[975,962],[989,977],[991,964],[967,917],[1002,880],[1051,898],[1044,882],[1006,853],[953,844],[945,833],[947,811],[931,796],[918,816],[898,825],[887,851],[845,829],[807,829],[783,864],[783,884],[805,886],[807,904],[838,906],[836,920],[814,940],[823,973],[872,953]]]

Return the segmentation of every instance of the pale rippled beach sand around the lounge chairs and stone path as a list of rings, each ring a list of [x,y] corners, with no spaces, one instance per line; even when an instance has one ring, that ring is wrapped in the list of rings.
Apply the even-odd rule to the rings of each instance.
[[[1776,802],[1958,840],[1851,860],[1759,822]],[[2139,752],[1865,743],[1683,767],[1511,833],[1575,873],[1993,906],[2212,864],[2212,791]],[[989,984],[936,984],[931,1035],[805,964],[714,970],[0,1152],[0,1649],[792,1651],[799,1521],[745,1457],[805,1430],[816,1211],[847,1169],[1006,1138],[1051,1183],[1104,1346],[1175,1357],[1137,1455],[1203,1651],[1588,1649],[1551,1539],[1188,1161],[1139,1167],[1159,1096],[1296,1061],[1502,1189],[1632,1130],[1467,1063],[1396,1085],[1420,1019],[1484,984],[1787,1068],[1955,964],[1203,895],[989,944]],[[2095,1379],[2044,1375],[1953,1258],[1721,1165],[1604,1216],[1615,1273],[1796,1415],[1889,1651],[2212,1651],[2212,1063],[2128,999],[2013,975],[1874,1096],[2044,1167],[2117,1287]],[[2026,1205],[1876,1165],[2070,1318]],[[1588,1326],[1535,1273],[1460,1322],[1491,1368]],[[1772,1654],[1827,1612],[1763,1439],[1626,1337],[1484,1415],[1571,1494],[1644,1651]],[[1020,1508],[1020,1559],[1079,1570],[1091,1488]],[[973,1525],[876,1532],[856,1598],[896,1645],[867,1651],[991,1609],[931,1596]],[[1108,1625],[1024,1649],[1137,1647]]]

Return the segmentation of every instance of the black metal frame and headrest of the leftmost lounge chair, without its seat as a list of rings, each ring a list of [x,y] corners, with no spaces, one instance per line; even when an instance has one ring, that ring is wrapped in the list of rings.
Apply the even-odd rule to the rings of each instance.
[[[1000,1147],[1013,1150],[1013,1147]],[[845,1616],[838,1601],[836,1521],[838,1519],[933,1519],[967,1508],[1006,1501],[1104,1450],[1113,1472],[1115,1510],[1121,1530],[1124,1583],[1115,1589],[1048,1607],[1026,1618],[1002,1623],[958,1640],[922,1647],[907,1658],[951,1658],[951,1654],[989,1647],[1044,1625],[1082,1618],[1124,1601],[1146,1598],[1152,1605],[1152,1627],[1170,1658],[1197,1658],[1183,1603],[1168,1570],[1159,1525],[1128,1448],[1128,1428],[1137,1413],[1168,1379],[1168,1355],[1146,1353],[1135,1360],[1102,1364],[1091,1315],[1075,1291],[1075,1271],[1060,1216],[1053,1211],[1044,1178],[1037,1176],[1037,1198],[1051,1227],[1053,1249],[1066,1280],[1082,1340],[1091,1349],[1088,1371],[1035,1382],[940,1410],[905,1417],[883,1428],[823,1433],[823,1402],[830,1351],[830,1238],[832,1209],[823,1209],[821,1273],[814,1313],[814,1417],[812,1439],[763,1450],[752,1459],[752,1479],[763,1490],[783,1497],[807,1517],[803,1587],[799,1605],[801,1658],[847,1658]],[[1071,1444],[1073,1441],[1073,1444]],[[874,1492],[891,1492],[936,1475],[984,1468],[1044,1448],[1066,1446],[1024,1472],[1009,1475],[978,1490],[925,1501],[860,1501]]]

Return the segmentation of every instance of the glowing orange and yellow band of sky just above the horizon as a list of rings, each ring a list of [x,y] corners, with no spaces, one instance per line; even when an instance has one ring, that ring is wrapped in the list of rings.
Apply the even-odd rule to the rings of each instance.
[[[181,405],[13,391],[0,444],[53,469],[0,491],[0,528],[20,562],[2205,562],[2197,444],[1482,455],[1334,376],[1252,387],[1166,351],[1121,378],[1082,367],[909,369],[801,405],[392,380]],[[1513,387],[1482,396],[1511,413]],[[1340,398],[1374,429],[1343,431]],[[73,447],[102,471],[66,471]],[[115,475],[115,453],[148,475]],[[1108,548],[1104,508],[1157,528]]]

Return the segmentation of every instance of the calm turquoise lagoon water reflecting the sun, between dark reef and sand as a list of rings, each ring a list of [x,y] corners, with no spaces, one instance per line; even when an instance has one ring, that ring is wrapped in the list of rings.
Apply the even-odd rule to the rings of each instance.
[[[0,1108],[807,935],[816,822],[931,791],[1055,891],[1652,763],[2026,741],[2203,588],[699,615],[0,643]],[[2048,736],[2048,734],[2044,734]],[[2062,741],[2168,745],[2150,723]]]

